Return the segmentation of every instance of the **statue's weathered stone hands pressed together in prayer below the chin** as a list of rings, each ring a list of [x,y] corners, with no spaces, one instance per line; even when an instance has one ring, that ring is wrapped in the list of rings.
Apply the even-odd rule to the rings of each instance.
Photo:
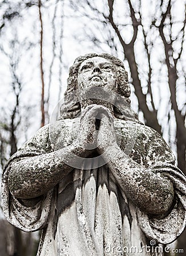
[[[102,154],[108,148],[117,146],[113,116],[108,108],[89,105],[81,114],[77,143],[85,150],[97,150]]]

